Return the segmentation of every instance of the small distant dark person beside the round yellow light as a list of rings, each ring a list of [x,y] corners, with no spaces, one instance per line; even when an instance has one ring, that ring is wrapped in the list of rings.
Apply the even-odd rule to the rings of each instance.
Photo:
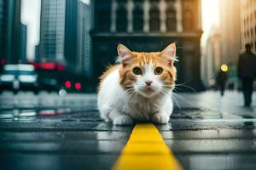
[[[228,75],[227,75],[228,70],[224,69],[224,66],[226,66],[226,65],[221,65],[221,67],[218,71],[218,75],[216,77],[216,82],[217,82],[218,89],[220,91],[221,96],[224,96],[224,90],[225,90],[226,82],[228,79]],[[225,67],[225,68],[227,68],[227,67]]]

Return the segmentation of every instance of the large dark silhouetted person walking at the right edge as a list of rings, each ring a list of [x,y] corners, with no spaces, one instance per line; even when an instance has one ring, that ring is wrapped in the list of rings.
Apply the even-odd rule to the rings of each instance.
[[[256,77],[256,55],[253,54],[251,45],[245,45],[246,52],[240,54],[237,65],[237,74],[241,80],[241,89],[244,97],[244,106],[250,107],[253,95],[253,80]]]

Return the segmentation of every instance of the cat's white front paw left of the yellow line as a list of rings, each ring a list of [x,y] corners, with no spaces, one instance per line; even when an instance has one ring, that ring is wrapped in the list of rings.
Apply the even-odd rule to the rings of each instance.
[[[116,109],[110,112],[109,117],[113,120],[113,125],[131,125],[134,123],[131,116],[125,115]]]

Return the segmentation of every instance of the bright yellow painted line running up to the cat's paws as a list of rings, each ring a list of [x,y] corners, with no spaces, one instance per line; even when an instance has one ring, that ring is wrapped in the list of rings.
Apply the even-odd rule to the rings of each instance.
[[[154,124],[137,124],[113,170],[181,170]]]

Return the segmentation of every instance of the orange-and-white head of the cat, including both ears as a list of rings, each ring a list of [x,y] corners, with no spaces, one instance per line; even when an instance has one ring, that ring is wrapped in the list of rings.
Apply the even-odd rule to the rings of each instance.
[[[166,94],[174,88],[176,81],[176,45],[170,44],[161,52],[131,52],[118,45],[121,62],[120,85],[129,94],[141,94],[146,98]]]

